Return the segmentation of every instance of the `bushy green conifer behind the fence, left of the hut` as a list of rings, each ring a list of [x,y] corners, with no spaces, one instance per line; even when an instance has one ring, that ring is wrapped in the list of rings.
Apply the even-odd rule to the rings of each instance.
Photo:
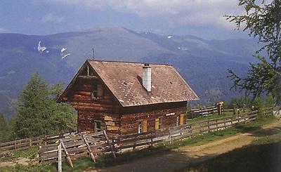
[[[61,86],[48,86],[38,73],[33,74],[20,95],[15,117],[19,138],[73,131],[77,114],[70,105],[55,102]]]

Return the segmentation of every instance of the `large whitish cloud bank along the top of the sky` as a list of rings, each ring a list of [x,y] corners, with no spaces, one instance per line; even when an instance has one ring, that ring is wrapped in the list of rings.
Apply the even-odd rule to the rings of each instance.
[[[241,14],[237,0],[48,0],[69,6],[84,6],[86,10],[111,8],[133,13],[140,18],[157,19],[169,26],[217,25],[233,28],[223,15]]]

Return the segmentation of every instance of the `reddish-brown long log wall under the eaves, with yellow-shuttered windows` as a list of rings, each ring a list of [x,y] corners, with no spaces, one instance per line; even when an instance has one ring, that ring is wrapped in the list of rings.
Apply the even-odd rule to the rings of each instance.
[[[183,121],[185,124],[186,102],[162,103],[138,107],[123,107],[120,118],[120,133],[122,135],[138,133],[138,122],[144,120],[147,121],[147,131],[155,130],[155,119],[159,118],[162,118],[161,128],[176,126],[178,120],[177,117],[179,117],[181,114],[184,114]]]

